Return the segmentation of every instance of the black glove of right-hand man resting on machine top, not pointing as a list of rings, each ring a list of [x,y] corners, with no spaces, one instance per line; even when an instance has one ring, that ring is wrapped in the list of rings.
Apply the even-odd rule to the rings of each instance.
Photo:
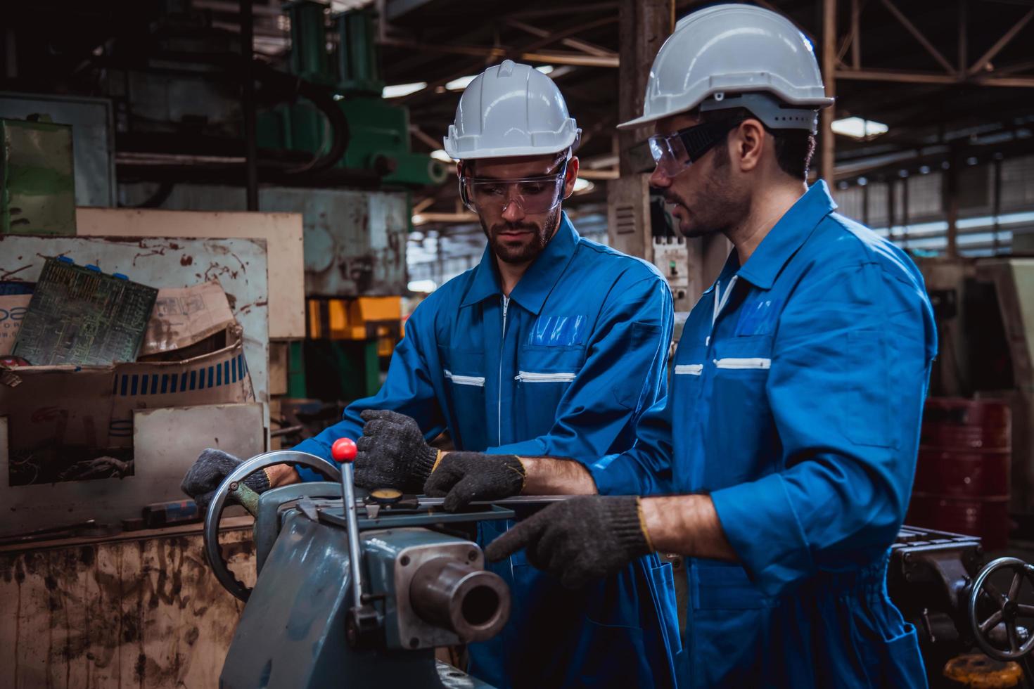
[[[427,477],[424,493],[445,496],[447,511],[462,509],[472,500],[498,500],[520,495],[524,488],[524,465],[516,455],[449,452]]]

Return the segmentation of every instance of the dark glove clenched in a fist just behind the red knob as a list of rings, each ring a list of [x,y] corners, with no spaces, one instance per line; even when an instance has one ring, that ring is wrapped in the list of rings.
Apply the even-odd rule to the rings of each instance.
[[[417,421],[397,411],[366,409],[363,437],[356,443],[356,484],[420,493],[438,450],[424,441]]]

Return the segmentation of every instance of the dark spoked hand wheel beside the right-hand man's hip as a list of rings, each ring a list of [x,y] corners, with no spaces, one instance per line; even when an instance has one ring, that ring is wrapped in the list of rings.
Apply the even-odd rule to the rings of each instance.
[[[1012,572],[1012,583],[1009,585],[1007,594],[1002,594],[990,581],[992,574],[1003,570]],[[1016,625],[1017,620],[1027,619],[1030,622],[1025,625],[1026,630],[1034,628],[1034,604],[1029,605],[1018,601],[1020,591],[1025,580],[1034,587],[1034,565],[1029,565],[1016,558],[999,558],[980,570],[970,589],[967,613],[973,637],[980,650],[992,658],[1018,660],[1029,654],[1031,649],[1034,649],[1034,634],[1027,632],[1024,635],[1021,631],[1022,628]],[[990,605],[986,603],[981,605],[981,600],[987,601]],[[989,607],[994,608],[995,612],[983,619],[977,617],[980,614],[980,608],[986,610]],[[996,628],[1003,623],[1005,626],[1004,638],[1000,630],[998,633],[994,633]],[[1008,646],[1007,650],[1001,648],[1006,645]]]

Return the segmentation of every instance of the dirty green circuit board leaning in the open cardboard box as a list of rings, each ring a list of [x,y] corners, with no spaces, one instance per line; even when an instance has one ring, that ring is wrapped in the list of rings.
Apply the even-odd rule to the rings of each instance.
[[[33,366],[135,361],[158,290],[48,258],[11,354]]]

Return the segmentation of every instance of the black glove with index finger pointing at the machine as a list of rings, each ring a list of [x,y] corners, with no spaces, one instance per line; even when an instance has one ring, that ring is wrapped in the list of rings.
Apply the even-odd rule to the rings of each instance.
[[[580,496],[546,507],[485,549],[492,562],[527,549],[527,561],[569,589],[613,574],[653,549],[636,496]]]

